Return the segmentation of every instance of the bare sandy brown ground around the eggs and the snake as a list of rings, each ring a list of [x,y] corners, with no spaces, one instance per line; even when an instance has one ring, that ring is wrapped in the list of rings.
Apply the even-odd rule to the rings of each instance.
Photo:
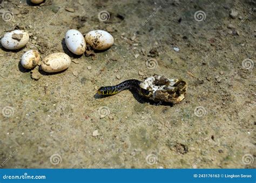
[[[2,2],[1,15],[12,14],[0,20],[0,35],[21,29],[30,40],[20,50],[0,50],[1,167],[255,168],[255,6]],[[100,17],[102,11],[109,16]],[[106,30],[114,45],[73,55],[64,41],[69,29]],[[65,52],[72,63],[51,74],[37,66],[32,79],[19,64],[31,49],[41,58]],[[152,103],[129,90],[95,97],[101,86],[153,74],[184,79],[185,100]]]

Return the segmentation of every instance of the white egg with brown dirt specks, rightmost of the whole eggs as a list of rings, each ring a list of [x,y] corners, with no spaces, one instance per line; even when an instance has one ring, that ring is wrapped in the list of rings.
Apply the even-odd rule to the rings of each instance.
[[[111,34],[102,30],[88,32],[85,41],[95,50],[106,50],[114,44]]]

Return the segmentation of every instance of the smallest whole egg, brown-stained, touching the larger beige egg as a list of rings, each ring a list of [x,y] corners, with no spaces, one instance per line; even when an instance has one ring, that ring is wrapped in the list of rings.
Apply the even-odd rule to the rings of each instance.
[[[40,54],[36,50],[30,50],[22,55],[21,65],[24,68],[32,69],[36,67],[40,60]]]

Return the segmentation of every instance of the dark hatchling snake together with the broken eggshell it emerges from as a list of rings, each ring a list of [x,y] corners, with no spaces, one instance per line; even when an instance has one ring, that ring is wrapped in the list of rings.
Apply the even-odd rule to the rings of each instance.
[[[144,81],[126,80],[115,86],[100,87],[99,95],[114,95],[125,89],[136,89],[140,96],[155,102],[179,103],[186,94],[187,83],[182,79],[168,79],[165,76],[153,75]]]

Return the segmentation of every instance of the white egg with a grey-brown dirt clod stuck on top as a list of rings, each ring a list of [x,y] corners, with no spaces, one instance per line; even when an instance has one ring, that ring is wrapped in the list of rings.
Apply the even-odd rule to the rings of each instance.
[[[16,50],[24,47],[29,41],[29,34],[23,30],[14,30],[4,34],[1,44],[8,50]]]

